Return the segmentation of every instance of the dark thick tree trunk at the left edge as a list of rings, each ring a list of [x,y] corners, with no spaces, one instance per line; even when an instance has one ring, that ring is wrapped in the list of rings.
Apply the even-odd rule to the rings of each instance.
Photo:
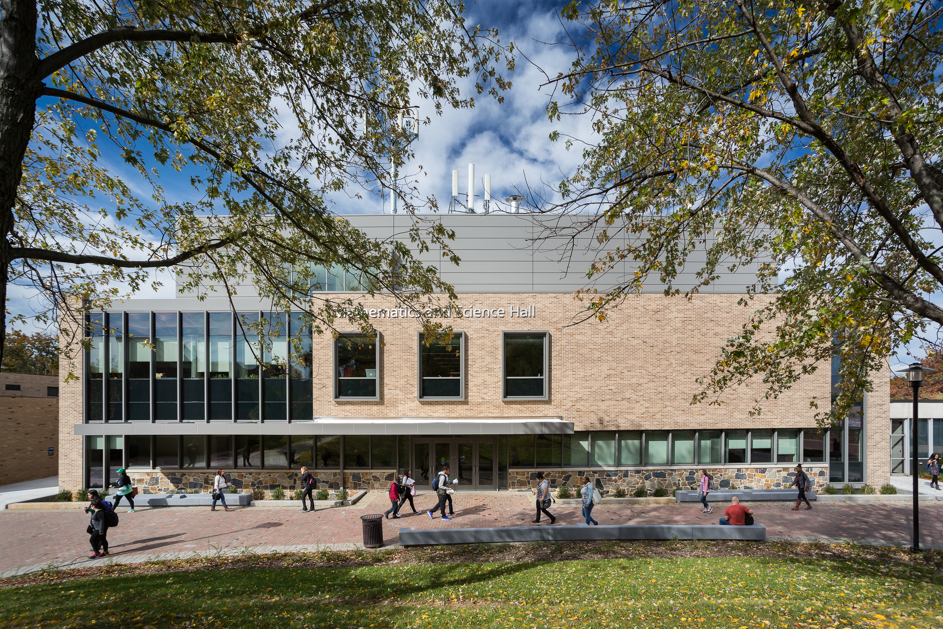
[[[13,205],[23,157],[36,124],[42,82],[36,56],[35,0],[0,0],[0,362],[7,340],[7,280]]]

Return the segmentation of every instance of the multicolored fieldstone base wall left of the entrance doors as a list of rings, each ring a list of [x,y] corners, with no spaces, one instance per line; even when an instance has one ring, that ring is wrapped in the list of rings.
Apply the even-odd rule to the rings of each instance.
[[[339,489],[340,472],[311,472],[318,479],[318,488]],[[141,493],[176,493],[181,489],[209,492],[213,488],[216,472],[212,470],[161,470],[160,472],[127,472],[131,484]],[[245,470],[226,470],[226,479],[242,493],[253,489],[272,491],[283,488],[286,492],[294,491],[298,486],[301,472],[265,471],[246,472]]]

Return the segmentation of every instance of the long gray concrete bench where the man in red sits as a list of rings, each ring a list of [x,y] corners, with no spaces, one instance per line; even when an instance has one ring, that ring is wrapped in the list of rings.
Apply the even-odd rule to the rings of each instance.
[[[400,546],[481,544],[509,541],[599,539],[747,539],[765,541],[766,527],[720,524],[600,524],[587,526],[507,526],[496,528],[400,529]]]

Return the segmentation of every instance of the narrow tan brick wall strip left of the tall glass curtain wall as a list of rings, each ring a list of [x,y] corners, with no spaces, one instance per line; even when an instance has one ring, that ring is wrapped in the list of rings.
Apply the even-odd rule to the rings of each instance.
[[[72,322],[63,317],[59,321],[59,346],[65,347],[73,341],[70,329]],[[77,350],[75,354],[80,354]],[[82,472],[82,438],[75,437],[74,425],[82,423],[82,366],[81,356],[74,359],[67,352],[59,354],[59,426],[58,467],[59,487],[81,489],[85,487]],[[74,377],[70,378],[70,374]]]

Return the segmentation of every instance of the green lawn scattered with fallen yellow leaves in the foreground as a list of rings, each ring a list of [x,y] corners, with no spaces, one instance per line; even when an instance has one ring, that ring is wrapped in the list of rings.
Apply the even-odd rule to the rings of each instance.
[[[722,557],[131,573],[0,589],[0,627],[943,626],[931,568]]]

